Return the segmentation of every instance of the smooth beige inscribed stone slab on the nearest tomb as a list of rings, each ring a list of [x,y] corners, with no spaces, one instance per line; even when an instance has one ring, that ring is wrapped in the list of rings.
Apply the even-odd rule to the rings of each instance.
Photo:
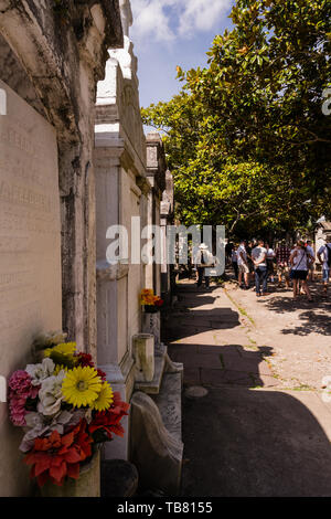
[[[60,194],[54,128],[0,88],[0,362],[10,372],[36,333],[61,328]]]

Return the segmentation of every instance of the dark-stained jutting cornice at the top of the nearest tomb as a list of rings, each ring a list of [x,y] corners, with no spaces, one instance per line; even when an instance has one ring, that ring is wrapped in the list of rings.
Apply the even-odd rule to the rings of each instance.
[[[121,47],[124,35],[118,0],[65,4],[54,2],[52,9],[36,0],[2,0],[0,32],[31,78],[58,139],[77,144],[84,140],[82,121],[90,123],[89,104],[95,82],[105,74],[107,49]]]

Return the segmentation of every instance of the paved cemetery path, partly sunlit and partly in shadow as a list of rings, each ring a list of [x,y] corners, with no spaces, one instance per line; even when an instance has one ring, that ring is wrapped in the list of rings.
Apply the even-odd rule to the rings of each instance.
[[[184,363],[182,495],[330,496],[330,299],[188,280],[178,293],[163,341]]]

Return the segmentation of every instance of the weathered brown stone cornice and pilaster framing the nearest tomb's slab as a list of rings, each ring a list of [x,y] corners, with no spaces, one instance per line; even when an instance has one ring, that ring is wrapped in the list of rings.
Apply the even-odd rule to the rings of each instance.
[[[51,0],[2,0],[0,33],[30,78],[38,96],[32,102],[56,129],[63,327],[95,352],[94,103],[107,49],[122,46],[118,0],[71,0],[57,8]]]

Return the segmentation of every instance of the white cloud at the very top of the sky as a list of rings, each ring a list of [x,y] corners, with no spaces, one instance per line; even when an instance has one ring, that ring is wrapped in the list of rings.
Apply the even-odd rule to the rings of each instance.
[[[135,39],[171,41],[210,31],[232,0],[131,0]]]

